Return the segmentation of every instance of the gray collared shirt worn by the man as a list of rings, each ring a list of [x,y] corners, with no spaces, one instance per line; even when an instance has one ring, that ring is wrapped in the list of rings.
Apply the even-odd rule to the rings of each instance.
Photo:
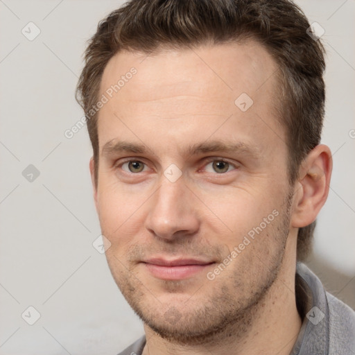
[[[304,263],[297,263],[297,309],[303,319],[290,355],[355,355],[355,311],[324,290]],[[142,336],[119,355],[141,355]]]

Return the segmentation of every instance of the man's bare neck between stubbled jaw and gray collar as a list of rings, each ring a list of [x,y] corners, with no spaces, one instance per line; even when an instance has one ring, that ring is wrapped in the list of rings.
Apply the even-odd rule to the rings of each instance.
[[[295,301],[295,256],[286,258],[288,248],[293,245],[286,245],[277,279],[261,302],[250,309],[248,319],[228,324],[223,333],[211,337],[203,345],[193,346],[168,342],[144,324],[146,347],[143,355],[290,354],[302,320]]]

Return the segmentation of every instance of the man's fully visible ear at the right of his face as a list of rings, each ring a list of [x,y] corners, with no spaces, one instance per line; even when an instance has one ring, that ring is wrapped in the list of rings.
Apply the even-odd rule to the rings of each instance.
[[[331,151],[324,144],[316,146],[304,159],[295,184],[293,227],[306,227],[317,217],[328,197],[332,168]]]

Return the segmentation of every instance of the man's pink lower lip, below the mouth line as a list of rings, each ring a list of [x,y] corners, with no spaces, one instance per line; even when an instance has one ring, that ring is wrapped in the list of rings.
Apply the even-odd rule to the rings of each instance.
[[[193,275],[198,274],[207,267],[211,266],[211,263],[205,265],[181,265],[181,266],[162,266],[155,265],[153,263],[144,263],[149,272],[158,279],[164,280],[179,280],[187,279]]]

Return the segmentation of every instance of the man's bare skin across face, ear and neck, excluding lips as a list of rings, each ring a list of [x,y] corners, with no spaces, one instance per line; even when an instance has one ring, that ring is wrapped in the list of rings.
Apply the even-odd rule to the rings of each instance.
[[[120,52],[105,68],[101,94],[131,67],[137,74],[99,112],[99,162],[90,169],[107,262],[144,320],[144,354],[289,354],[302,324],[297,230],[327,199],[329,148],[315,147],[290,186],[286,133],[273,107],[277,64],[260,44]],[[254,102],[245,112],[234,104],[242,93]],[[146,152],[115,149],[120,141]],[[239,148],[187,152],[212,141]],[[171,164],[182,173],[175,182],[164,175]],[[208,279],[272,211],[278,215]],[[214,264],[162,280],[141,263],[157,255]]]

